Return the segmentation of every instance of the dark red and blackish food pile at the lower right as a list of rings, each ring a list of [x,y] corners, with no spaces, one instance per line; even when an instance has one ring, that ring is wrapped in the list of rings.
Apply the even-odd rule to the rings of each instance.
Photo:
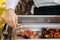
[[[42,38],[60,38],[60,29],[43,28]]]

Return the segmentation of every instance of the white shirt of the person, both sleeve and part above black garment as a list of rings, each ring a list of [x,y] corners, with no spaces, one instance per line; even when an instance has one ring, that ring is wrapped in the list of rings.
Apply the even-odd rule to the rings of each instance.
[[[6,9],[15,9],[20,0],[6,0]],[[33,0],[36,7],[60,5],[60,0]]]

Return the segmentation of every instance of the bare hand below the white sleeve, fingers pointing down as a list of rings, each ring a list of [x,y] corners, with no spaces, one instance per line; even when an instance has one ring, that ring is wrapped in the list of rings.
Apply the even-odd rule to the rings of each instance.
[[[16,29],[16,26],[18,25],[18,16],[15,14],[13,9],[6,10],[4,20],[9,26]]]

